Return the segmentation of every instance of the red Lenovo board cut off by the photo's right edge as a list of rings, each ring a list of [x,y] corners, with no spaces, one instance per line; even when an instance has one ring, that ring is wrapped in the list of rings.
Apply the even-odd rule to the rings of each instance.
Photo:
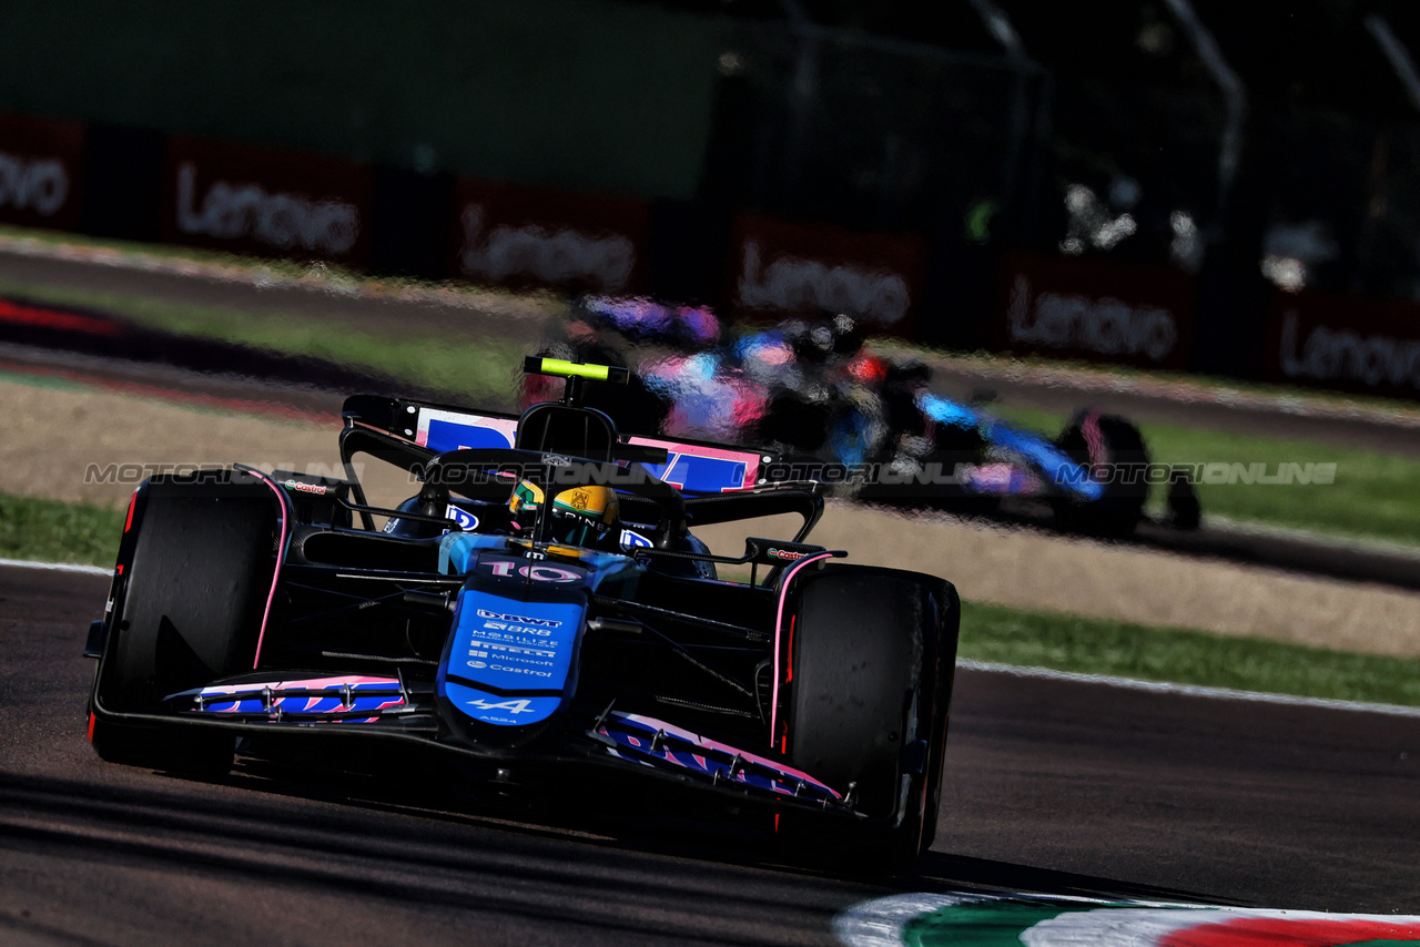
[[[1420,398],[1420,304],[1277,291],[1264,355],[1269,382]]]

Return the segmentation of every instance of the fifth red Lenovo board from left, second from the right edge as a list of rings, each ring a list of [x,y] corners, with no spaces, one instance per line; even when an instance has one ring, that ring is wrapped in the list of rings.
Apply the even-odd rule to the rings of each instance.
[[[1172,267],[1007,253],[995,345],[1048,358],[1184,369],[1196,280]]]

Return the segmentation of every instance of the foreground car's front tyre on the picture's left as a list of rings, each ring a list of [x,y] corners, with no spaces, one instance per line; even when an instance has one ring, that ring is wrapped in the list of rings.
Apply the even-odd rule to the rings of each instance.
[[[136,538],[125,537],[119,554],[122,578],[94,687],[94,750],[111,762],[226,772],[231,735],[109,714],[155,708],[251,669],[275,568],[275,498],[264,484],[226,476],[155,477],[133,514]]]

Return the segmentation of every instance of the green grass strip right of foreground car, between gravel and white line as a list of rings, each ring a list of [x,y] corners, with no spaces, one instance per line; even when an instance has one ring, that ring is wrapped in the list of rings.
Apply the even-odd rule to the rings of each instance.
[[[960,657],[1420,707],[1420,660],[966,602]]]

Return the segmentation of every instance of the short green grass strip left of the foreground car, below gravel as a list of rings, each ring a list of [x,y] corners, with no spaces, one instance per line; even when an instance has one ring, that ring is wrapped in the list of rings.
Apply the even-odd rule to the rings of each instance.
[[[0,494],[0,558],[112,566],[125,514]]]

